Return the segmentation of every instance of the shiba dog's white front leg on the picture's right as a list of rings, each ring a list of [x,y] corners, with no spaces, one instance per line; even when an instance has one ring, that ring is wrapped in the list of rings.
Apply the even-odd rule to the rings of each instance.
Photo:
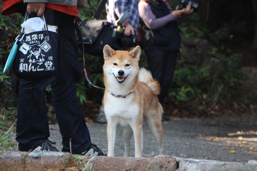
[[[133,126],[135,139],[135,157],[142,157],[143,149],[143,127],[142,124],[135,124]]]

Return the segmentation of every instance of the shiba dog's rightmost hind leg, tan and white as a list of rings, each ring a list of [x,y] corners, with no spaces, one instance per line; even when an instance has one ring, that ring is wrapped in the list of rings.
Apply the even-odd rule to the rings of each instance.
[[[161,118],[153,120],[150,116],[146,116],[149,128],[154,136],[154,139],[157,143],[159,155],[163,155],[163,146],[162,146],[162,137],[163,137],[163,130],[161,124]]]

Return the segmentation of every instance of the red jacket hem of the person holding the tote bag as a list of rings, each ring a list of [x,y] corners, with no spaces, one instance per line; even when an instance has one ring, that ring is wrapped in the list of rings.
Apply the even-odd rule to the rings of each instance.
[[[19,13],[15,4],[21,3],[23,0],[3,0],[2,15],[10,15],[13,13]],[[46,4],[46,8],[50,8],[56,11],[61,11],[69,15],[78,16],[77,6],[58,5],[58,4]]]

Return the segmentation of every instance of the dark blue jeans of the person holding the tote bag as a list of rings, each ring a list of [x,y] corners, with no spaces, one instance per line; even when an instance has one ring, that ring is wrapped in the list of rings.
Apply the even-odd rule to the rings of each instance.
[[[75,87],[82,69],[78,61],[74,17],[48,8],[45,17],[48,25],[58,26],[58,72],[49,79],[20,81],[16,140],[20,151],[28,151],[48,139],[45,88],[50,84],[62,136],[62,151],[70,151],[71,139],[72,154],[80,154],[91,146],[91,140]]]

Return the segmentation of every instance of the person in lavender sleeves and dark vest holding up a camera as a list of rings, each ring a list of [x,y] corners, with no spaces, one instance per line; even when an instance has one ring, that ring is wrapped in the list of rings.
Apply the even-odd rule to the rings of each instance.
[[[177,19],[181,15],[192,13],[193,9],[187,5],[181,10],[172,10],[164,0],[140,0],[138,11],[143,49],[153,78],[160,83],[158,99],[163,104],[171,85],[181,44]],[[164,117],[164,120],[169,120],[168,116]]]

